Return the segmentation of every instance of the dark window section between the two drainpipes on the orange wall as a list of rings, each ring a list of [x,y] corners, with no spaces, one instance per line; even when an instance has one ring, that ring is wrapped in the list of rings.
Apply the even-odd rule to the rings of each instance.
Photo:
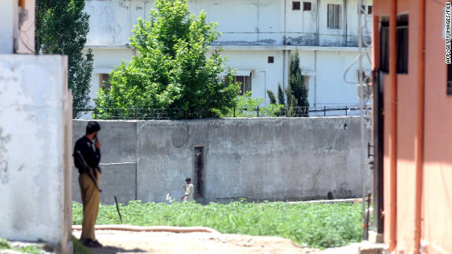
[[[408,73],[408,14],[397,17],[397,73]]]

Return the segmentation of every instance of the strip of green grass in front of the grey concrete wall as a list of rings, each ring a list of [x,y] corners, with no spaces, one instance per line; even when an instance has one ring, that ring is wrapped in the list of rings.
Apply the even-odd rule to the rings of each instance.
[[[223,234],[281,236],[315,248],[362,241],[361,205],[285,202],[143,203],[119,205],[124,224],[138,226],[208,226]],[[82,222],[82,205],[73,202],[73,224]],[[114,205],[101,205],[97,224],[120,224]]]

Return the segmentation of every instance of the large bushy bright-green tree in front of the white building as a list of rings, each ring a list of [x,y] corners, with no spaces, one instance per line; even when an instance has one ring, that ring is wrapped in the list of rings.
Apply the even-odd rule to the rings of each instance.
[[[203,11],[191,14],[186,0],[156,0],[155,8],[148,20],[138,18],[130,38],[137,55],[112,71],[111,86],[97,94],[97,107],[182,109],[174,118],[215,117],[234,107],[239,85],[225,69],[221,50],[206,57],[220,37],[217,24],[207,24]],[[98,116],[108,117],[102,111]]]

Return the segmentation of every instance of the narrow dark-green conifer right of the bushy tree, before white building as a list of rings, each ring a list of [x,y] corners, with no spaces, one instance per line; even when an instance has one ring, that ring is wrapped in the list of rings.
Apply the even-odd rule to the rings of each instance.
[[[290,114],[295,116],[308,116],[309,102],[307,84],[304,83],[302,70],[299,68],[298,50],[290,54],[289,80],[287,83],[287,107]],[[292,108],[292,110],[291,110]]]

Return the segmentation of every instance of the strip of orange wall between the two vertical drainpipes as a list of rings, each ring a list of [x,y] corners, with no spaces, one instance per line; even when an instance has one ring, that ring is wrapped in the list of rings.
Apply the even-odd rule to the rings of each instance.
[[[410,253],[415,227],[415,138],[418,116],[417,0],[398,1],[397,13],[408,13],[408,74],[397,77],[397,247]]]

